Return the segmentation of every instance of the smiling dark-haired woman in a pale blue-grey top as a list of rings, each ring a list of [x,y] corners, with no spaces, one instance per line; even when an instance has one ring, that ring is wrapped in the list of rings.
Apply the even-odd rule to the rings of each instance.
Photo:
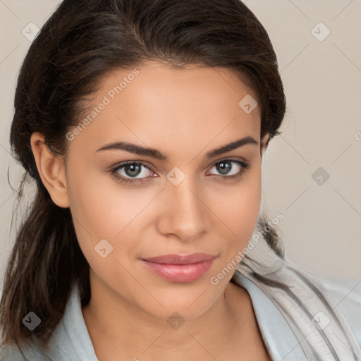
[[[337,307],[283,259],[283,215],[259,214],[286,100],[242,2],[65,0],[15,109],[37,193],[4,282],[1,360],[360,359],[360,303]]]

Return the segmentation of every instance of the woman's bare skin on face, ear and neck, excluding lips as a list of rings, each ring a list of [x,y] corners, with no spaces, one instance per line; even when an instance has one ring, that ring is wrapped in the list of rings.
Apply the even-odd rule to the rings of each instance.
[[[260,111],[247,114],[238,106],[255,94],[225,69],[174,69],[149,61],[137,70],[114,99],[109,90],[131,70],[106,75],[92,104],[104,96],[111,102],[69,141],[66,161],[49,152],[41,134],[31,137],[42,181],[59,207],[70,207],[90,264],[92,298],[82,313],[97,357],[269,360],[249,295],[229,282],[235,269],[216,286],[209,281],[247,246],[259,214]],[[205,157],[245,136],[257,145]],[[119,149],[97,152],[121,141],[159,149],[168,161]],[[217,164],[229,158],[245,161],[249,169],[226,179],[242,169],[231,162],[222,173]],[[149,166],[133,175],[144,183],[121,183],[111,175],[112,167],[126,161]],[[166,177],[174,167],[185,175],[178,185]],[[133,173],[123,167],[118,174],[132,179]],[[94,250],[102,239],[113,247],[104,258]],[[140,262],[192,252],[218,257],[190,283],[161,279]],[[173,312],[185,320],[178,329],[167,322]]]

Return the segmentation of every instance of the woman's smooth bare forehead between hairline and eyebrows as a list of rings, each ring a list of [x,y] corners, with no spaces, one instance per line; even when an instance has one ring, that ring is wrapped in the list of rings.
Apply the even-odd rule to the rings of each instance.
[[[183,149],[188,142],[205,147],[214,140],[216,147],[241,136],[257,139],[260,109],[255,99],[255,92],[224,68],[148,62],[115,69],[99,83],[90,109],[78,120],[87,118],[87,126],[75,138],[88,148],[127,140]],[[245,111],[250,102],[255,109]]]

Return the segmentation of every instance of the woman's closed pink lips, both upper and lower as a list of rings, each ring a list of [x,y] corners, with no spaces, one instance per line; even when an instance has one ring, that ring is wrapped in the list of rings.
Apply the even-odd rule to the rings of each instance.
[[[171,282],[192,282],[200,279],[212,267],[216,255],[192,253],[191,255],[160,255],[140,259],[153,274]]]

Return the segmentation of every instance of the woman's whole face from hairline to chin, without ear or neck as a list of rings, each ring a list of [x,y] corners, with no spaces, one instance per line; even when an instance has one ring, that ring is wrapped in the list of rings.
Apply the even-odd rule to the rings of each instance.
[[[69,130],[66,162],[68,202],[97,292],[184,318],[224,292],[235,268],[217,274],[247,246],[259,214],[260,113],[251,96],[224,69],[149,62],[104,78],[93,113]],[[117,148],[121,142],[143,150]],[[144,261],[195,252],[215,258]]]

